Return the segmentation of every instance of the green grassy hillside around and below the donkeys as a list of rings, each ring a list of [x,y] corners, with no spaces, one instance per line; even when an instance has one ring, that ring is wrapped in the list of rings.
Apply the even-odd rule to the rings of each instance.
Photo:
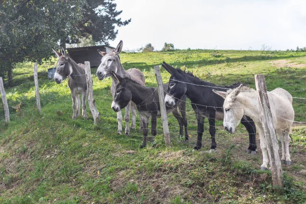
[[[174,52],[123,53],[125,69],[136,67],[147,86],[156,86],[152,67],[162,61],[193,72],[219,85],[241,82],[255,88],[254,74],[263,73],[268,90],[282,87],[292,96],[295,121],[306,121],[306,53],[243,50],[176,50]],[[260,171],[262,154],[246,154],[248,136],[242,125],[235,135],[216,123],[217,150],[210,148],[208,121],[201,151],[192,151],[197,123],[187,105],[189,144],[182,143],[175,118],[169,115],[171,147],[165,147],[161,121],[157,146],[140,149],[137,127],[130,137],[117,135],[116,113],[111,109],[111,79],[93,89],[101,121],[93,124],[79,116],[72,120],[67,80],[47,79],[38,68],[42,113],[37,113],[33,63],[14,69],[15,86],[6,89],[10,124],[4,122],[0,102],[0,203],[305,203],[306,125],[294,124],[290,143],[291,166],[283,166],[283,195],[273,192],[270,171]],[[169,74],[162,68],[164,82]],[[20,105],[18,110],[14,109]]]

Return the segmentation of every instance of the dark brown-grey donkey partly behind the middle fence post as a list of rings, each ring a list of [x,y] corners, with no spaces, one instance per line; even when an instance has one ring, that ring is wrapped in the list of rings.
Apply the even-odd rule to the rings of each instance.
[[[151,134],[153,137],[157,134],[157,116],[160,116],[160,101],[156,87],[144,87],[131,78],[121,78],[120,75],[112,72],[113,78],[117,81],[116,92],[112,103],[112,109],[116,112],[126,107],[132,100],[139,111],[143,123],[143,140],[141,148],[146,146],[146,137],[148,135],[148,120],[151,118]],[[164,85],[166,91],[168,84]],[[180,108],[181,114],[178,108]],[[174,107],[166,107],[167,114],[171,113],[180,124],[180,136],[183,137],[183,126],[185,126],[185,141],[188,141],[187,119],[186,119],[186,95],[180,103]]]

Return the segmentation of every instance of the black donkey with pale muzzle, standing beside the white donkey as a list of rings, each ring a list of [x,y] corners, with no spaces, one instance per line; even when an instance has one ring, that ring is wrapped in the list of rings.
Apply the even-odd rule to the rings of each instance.
[[[177,101],[186,94],[191,100],[191,106],[195,112],[197,119],[197,142],[194,147],[198,150],[202,146],[202,135],[204,131],[205,117],[209,121],[209,133],[212,138],[210,152],[215,151],[217,143],[215,141],[215,119],[223,120],[223,101],[224,99],[213,92],[216,90],[227,90],[239,86],[234,84],[231,86],[217,86],[213,83],[202,81],[192,73],[175,69],[167,63],[163,62],[162,66],[171,74],[169,87],[165,97],[165,103],[168,106],[176,106]],[[249,133],[249,147],[247,152],[256,154],[256,126],[251,118],[242,116],[241,123],[246,127]]]

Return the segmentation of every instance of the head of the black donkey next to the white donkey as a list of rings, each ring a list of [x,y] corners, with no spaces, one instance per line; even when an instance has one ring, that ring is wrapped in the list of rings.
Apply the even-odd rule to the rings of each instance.
[[[177,105],[177,101],[186,93],[187,85],[183,83],[184,73],[163,62],[162,66],[171,74],[165,103],[169,107]]]

